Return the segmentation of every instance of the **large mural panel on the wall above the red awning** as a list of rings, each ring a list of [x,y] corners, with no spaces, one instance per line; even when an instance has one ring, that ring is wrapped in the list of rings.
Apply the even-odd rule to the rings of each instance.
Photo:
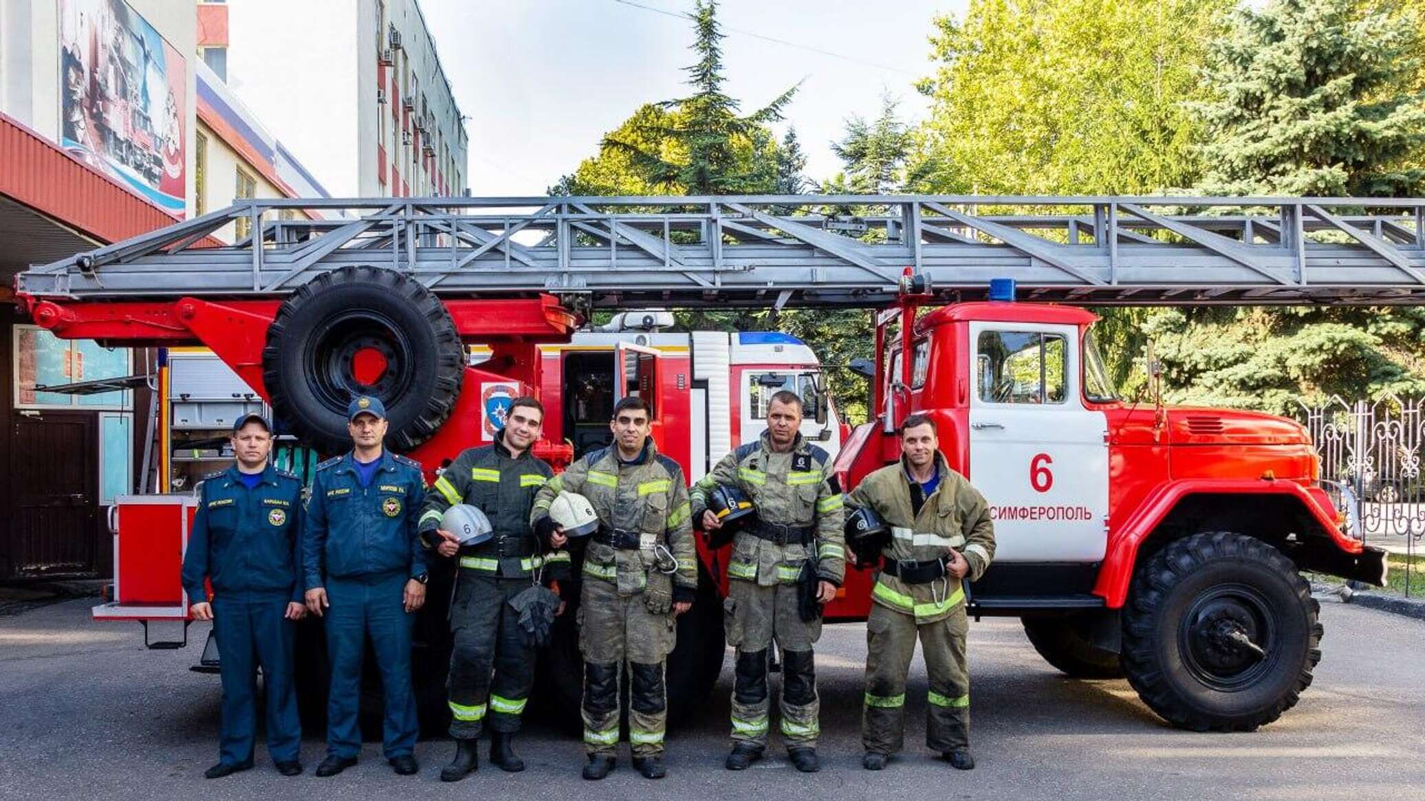
[[[184,217],[187,68],[123,0],[60,0],[60,144]]]

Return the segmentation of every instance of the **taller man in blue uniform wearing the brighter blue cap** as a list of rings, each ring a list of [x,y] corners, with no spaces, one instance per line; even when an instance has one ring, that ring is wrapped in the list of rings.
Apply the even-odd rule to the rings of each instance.
[[[416,772],[416,700],[410,687],[415,611],[426,600],[426,562],[416,539],[425,500],[420,465],[388,453],[386,408],[358,396],[346,408],[353,448],[316,466],[302,529],[306,609],[326,619],[332,667],[326,758],[316,775],[356,764],[361,671],[366,637],[386,698],[382,751],[400,775]]]

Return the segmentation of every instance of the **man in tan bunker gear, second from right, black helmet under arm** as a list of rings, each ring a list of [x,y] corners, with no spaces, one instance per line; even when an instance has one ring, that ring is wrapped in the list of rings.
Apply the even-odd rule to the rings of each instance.
[[[732,688],[732,753],[728,770],[744,770],[767,748],[770,700],[768,648],[782,654],[781,733],[792,764],[819,768],[819,698],[812,644],[821,619],[798,614],[798,577],[815,563],[818,600],[835,599],[846,570],[842,496],[829,479],[829,458],[798,433],[801,398],[775,393],[767,408],[767,432],[758,442],[728,453],[693,487],[693,515],[711,532],[721,527],[707,497],[720,485],[737,486],[757,506],[757,523],[732,539],[724,601],[727,641],[737,648]]]

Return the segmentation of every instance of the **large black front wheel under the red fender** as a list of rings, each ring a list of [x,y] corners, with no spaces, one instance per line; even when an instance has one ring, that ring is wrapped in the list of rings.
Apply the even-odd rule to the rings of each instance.
[[[1139,566],[1123,613],[1123,670],[1174,725],[1251,731],[1311,686],[1318,611],[1280,550],[1231,532],[1193,534]]]

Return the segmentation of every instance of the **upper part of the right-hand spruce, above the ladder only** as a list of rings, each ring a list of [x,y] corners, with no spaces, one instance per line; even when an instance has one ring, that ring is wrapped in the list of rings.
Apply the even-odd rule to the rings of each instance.
[[[1198,188],[1224,195],[1425,190],[1418,19],[1352,0],[1273,0],[1210,47]]]

